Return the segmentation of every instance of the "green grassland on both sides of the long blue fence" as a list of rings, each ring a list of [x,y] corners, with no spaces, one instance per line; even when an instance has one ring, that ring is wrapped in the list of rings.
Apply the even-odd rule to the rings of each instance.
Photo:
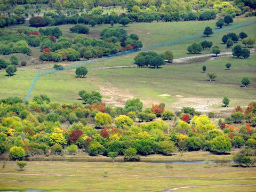
[[[255,18],[234,19],[233,25],[254,19]],[[132,23],[129,24],[128,27],[125,27],[125,29],[127,29],[129,33],[137,33],[144,45],[147,46],[189,35],[200,34],[205,26],[210,26],[215,29],[215,21]],[[16,26],[16,28],[19,27],[22,26]],[[65,25],[59,27],[63,30],[63,34],[69,33],[70,26]],[[100,31],[105,27],[106,25],[91,28],[93,36],[97,37],[97,34],[99,35]],[[115,27],[118,26],[115,25]],[[189,57],[191,55],[187,53],[187,46],[194,42],[203,41],[204,39],[213,41],[213,44],[219,45],[221,51],[231,51],[231,49],[226,49],[225,45],[221,44],[221,37],[224,34],[227,34],[228,32],[235,32],[238,34],[241,31],[244,31],[249,37],[255,38],[255,28],[256,25],[250,25],[213,34],[209,38],[202,37],[171,46],[159,47],[154,51],[163,53],[165,50],[172,50],[175,58]],[[31,29],[34,30],[38,28]],[[142,29],[147,31],[140,31]],[[177,33],[177,31],[179,31],[179,33]],[[74,37],[77,34],[71,34],[71,36],[72,35]],[[238,41],[236,44],[242,44],[242,42]],[[38,51],[35,51],[34,53],[35,57],[37,52]],[[211,53],[211,51],[203,51],[202,54],[204,53]],[[205,102],[209,100],[211,101],[213,98],[219,99],[217,103],[215,101],[210,103],[209,106],[211,108],[220,108],[221,100],[225,95],[231,99],[230,107],[247,105],[250,101],[255,99],[255,55],[251,55],[248,60],[225,57],[199,64],[166,65],[157,70],[146,68],[102,69],[102,67],[133,65],[133,58],[135,55],[137,55],[137,53],[86,65],[89,69],[89,73],[85,79],[75,78],[74,70],[61,71],[55,74],[41,76],[38,78],[34,89],[30,94],[29,100],[31,100],[34,95],[47,94],[52,101],[73,103],[78,101],[77,93],[81,89],[93,91],[102,90],[102,88],[109,89],[109,87],[112,89],[109,92],[113,92],[113,94],[126,91],[127,93],[125,94],[127,94],[127,98],[135,97],[142,99],[145,101],[145,106],[147,107],[153,102],[165,102],[167,108],[172,108],[173,106],[170,107],[171,103],[180,100],[180,98],[173,97],[174,95],[181,95],[183,98],[205,98]],[[8,59],[9,56],[5,57],[5,59]],[[27,60],[28,58],[23,59]],[[225,70],[225,64],[227,62],[231,63],[231,70]],[[74,63],[77,62],[65,62],[65,65],[73,65]],[[207,67],[206,73],[201,73],[203,65]],[[18,68],[14,77],[7,77],[5,71],[1,70],[0,76],[2,87],[0,98],[9,97],[10,95],[20,95],[25,99],[36,73],[52,68],[52,66],[53,63],[47,63]],[[189,76],[187,75],[188,71]],[[216,73],[218,76],[216,81],[207,81],[207,73]],[[245,75],[251,79],[251,85],[246,89],[240,87],[241,79]],[[102,94],[105,98],[112,97],[112,95],[108,93]],[[170,94],[172,97],[159,97],[158,95],[161,94]],[[122,97],[122,95],[118,95],[118,97],[119,96]],[[190,103],[187,101],[182,101],[179,107],[189,104]]]

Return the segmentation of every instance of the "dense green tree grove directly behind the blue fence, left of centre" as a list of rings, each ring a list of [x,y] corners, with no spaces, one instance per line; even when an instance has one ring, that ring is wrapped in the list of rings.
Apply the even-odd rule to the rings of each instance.
[[[40,55],[43,61],[62,61],[79,60],[80,58],[100,58],[110,54],[136,49],[142,47],[139,37],[135,34],[127,35],[124,29],[103,29],[100,33],[102,39],[84,38],[76,36],[74,41],[65,36],[52,41],[51,36],[43,38],[40,49],[45,48],[50,52],[44,52]],[[71,48],[72,47],[72,48]]]

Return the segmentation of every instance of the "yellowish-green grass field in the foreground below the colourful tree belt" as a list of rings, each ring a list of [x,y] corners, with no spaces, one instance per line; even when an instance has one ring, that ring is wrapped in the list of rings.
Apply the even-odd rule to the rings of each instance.
[[[1,162],[2,163],[2,162]],[[108,171],[107,176],[105,171]],[[10,175],[1,173],[45,174]],[[80,177],[68,177],[81,175]],[[63,175],[54,177],[53,175]],[[84,176],[82,176],[84,175]],[[15,162],[7,162],[0,170],[1,190],[43,191],[163,191],[195,185],[228,185],[255,183],[255,179],[218,179],[220,177],[255,177],[256,168],[232,164],[165,164],[165,163],[104,163],[104,162],[28,162],[18,171]],[[164,176],[164,177],[157,177]],[[176,178],[175,178],[176,177]],[[188,178],[182,178],[188,177]],[[217,177],[217,178],[215,178]],[[150,180],[150,182],[148,182]],[[58,185],[57,185],[58,183]],[[254,186],[237,186],[253,191]],[[189,191],[212,191],[216,187],[190,188]],[[233,188],[235,188],[233,186]],[[230,188],[221,187],[218,191]],[[179,191],[179,190],[178,190]]]

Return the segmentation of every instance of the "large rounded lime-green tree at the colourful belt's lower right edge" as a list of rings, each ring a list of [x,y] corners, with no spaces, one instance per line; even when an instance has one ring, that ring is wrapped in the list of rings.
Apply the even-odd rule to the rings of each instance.
[[[231,142],[224,136],[217,136],[212,139],[211,142],[212,149],[220,153],[225,153],[225,151],[231,151]]]

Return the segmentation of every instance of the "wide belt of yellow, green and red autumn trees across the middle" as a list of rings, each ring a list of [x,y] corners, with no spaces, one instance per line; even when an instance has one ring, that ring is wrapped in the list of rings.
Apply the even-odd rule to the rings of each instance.
[[[100,97],[97,92],[83,90],[79,95],[83,99]],[[233,119],[231,125],[225,122],[226,118],[224,121],[220,119],[220,129],[212,124],[208,116],[199,115],[194,108],[183,107],[177,112],[178,117],[172,111],[165,110],[164,103],[154,104],[152,108],[140,112],[141,109],[139,99],[127,101],[125,108],[106,107],[97,100],[85,106],[60,105],[51,103],[46,95],[37,96],[26,104],[19,98],[2,99],[0,152],[9,151],[11,158],[21,160],[25,156],[49,151],[61,154],[63,148],[69,154],[81,149],[92,156],[102,154],[115,158],[124,155],[126,160],[134,160],[138,159],[137,155],[170,155],[177,150],[205,149],[225,153],[231,147],[246,145],[256,148],[256,129],[252,126],[256,124],[256,103],[250,103],[245,110],[237,106],[230,116]],[[175,123],[170,127],[163,120],[149,119],[152,122],[133,125],[133,119],[129,117],[131,112],[142,121],[141,117],[148,115],[153,118],[162,116],[164,120]],[[244,119],[251,126],[236,125]],[[61,122],[71,125],[68,129],[61,129]],[[100,129],[93,128],[93,124]]]

